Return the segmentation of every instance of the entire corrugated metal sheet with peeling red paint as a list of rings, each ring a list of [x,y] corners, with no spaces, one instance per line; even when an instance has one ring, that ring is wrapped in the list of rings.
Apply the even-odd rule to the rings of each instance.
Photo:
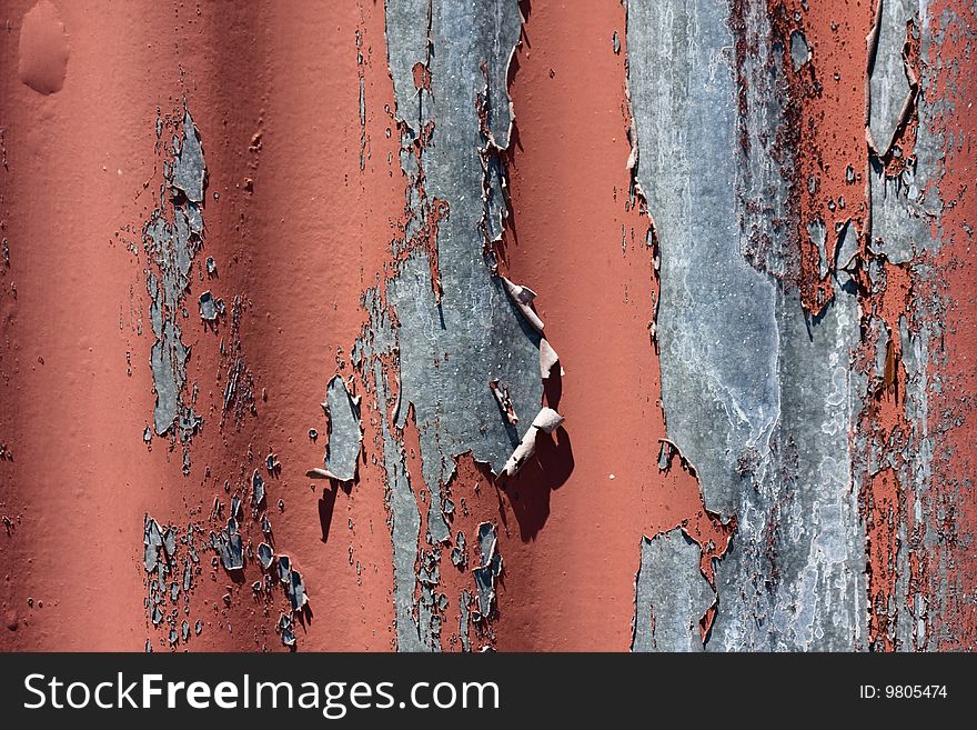
[[[974,648],[971,4],[3,11],[0,648]]]

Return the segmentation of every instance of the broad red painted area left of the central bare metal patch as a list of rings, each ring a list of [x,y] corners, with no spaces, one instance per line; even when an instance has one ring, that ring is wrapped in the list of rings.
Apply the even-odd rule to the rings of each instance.
[[[214,497],[230,499],[224,481],[236,488],[255,468],[269,483],[276,547],[310,589],[314,618],[300,641],[390,648],[382,474],[367,462],[353,492],[325,496],[324,542],[323,492],[304,477],[324,442],[312,443],[308,430],[325,433],[319,403],[336,349],[348,350],[365,321],[360,292],[381,270],[403,196],[387,160],[394,154],[395,164],[396,146],[385,136],[392,88],[382,8],[362,4],[323,13],[304,4],[198,12],[151,3],[104,13],[99,3],[61,3],[71,37],[63,89],[41,96],[3,74],[0,194],[10,267],[2,277],[0,441],[12,458],[0,464],[0,512],[12,527],[0,537],[0,602],[13,627],[6,649],[141,650],[147,637],[160,649],[163,632],[148,628],[143,607],[143,513],[210,529]],[[4,69],[18,68],[17,29],[29,7],[4,6],[12,26],[0,50]],[[357,31],[371,100],[365,174]],[[171,451],[157,439],[147,449],[140,437],[154,402],[140,231],[158,204],[165,158],[154,152],[157,107],[179,119],[184,98],[209,170],[207,231],[187,297],[194,317],[184,324],[188,381],[200,383],[205,424],[187,478],[179,446]],[[175,131],[168,127],[164,139]],[[208,256],[215,280],[198,276]],[[208,288],[229,307],[242,297],[241,354],[258,401],[256,417],[240,424],[229,417],[222,429],[230,363],[220,343],[230,348],[233,332],[230,320],[214,333],[195,318],[195,297]],[[270,449],[283,467],[274,479],[263,468]],[[256,546],[256,523],[245,534]],[[190,646],[280,647],[272,631],[284,596],[254,603],[258,576],[234,586],[223,571],[212,579],[209,553],[202,563],[192,606],[205,627]],[[226,586],[230,608],[221,600]]]

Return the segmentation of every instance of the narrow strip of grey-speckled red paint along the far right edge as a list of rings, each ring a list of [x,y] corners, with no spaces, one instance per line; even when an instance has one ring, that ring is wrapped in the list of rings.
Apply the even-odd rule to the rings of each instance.
[[[934,489],[929,529],[940,538],[929,556],[926,584],[928,592],[946,599],[934,617],[940,649],[973,649],[977,644],[977,562],[973,540],[977,534],[977,502],[974,499],[975,453],[974,396],[977,374],[973,364],[977,347],[977,308],[974,301],[974,271],[970,253],[974,226],[977,224],[975,147],[977,110],[971,100],[977,91],[977,60],[974,31],[977,16],[973,3],[939,0],[929,8],[934,33],[943,43],[931,49],[927,62],[937,69],[933,88],[927,92],[946,102],[936,123],[946,130],[943,150],[943,177],[939,182],[944,202],[939,234],[940,250],[936,296],[945,302],[943,359],[930,367],[930,377],[941,387],[934,393],[930,429],[936,434]],[[937,56],[938,54],[938,56]],[[939,58],[944,59],[939,63]],[[954,62],[947,63],[946,59]],[[945,577],[937,567],[945,567]],[[946,584],[946,589],[941,583]]]

